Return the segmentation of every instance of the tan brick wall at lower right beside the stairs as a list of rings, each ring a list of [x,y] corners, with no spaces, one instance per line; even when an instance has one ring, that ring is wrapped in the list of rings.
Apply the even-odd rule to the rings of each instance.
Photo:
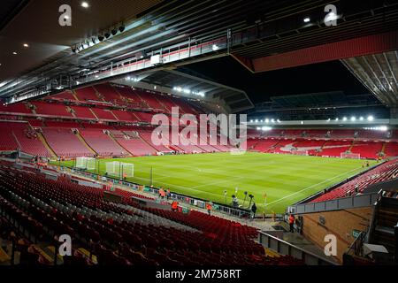
[[[325,235],[333,234],[337,240],[337,256],[342,256],[355,240],[353,232],[366,231],[371,222],[372,207],[310,213],[302,216],[302,235],[321,249],[325,248]]]

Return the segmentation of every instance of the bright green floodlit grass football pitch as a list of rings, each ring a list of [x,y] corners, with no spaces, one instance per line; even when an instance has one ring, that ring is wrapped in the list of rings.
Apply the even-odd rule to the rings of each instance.
[[[231,204],[232,195],[237,195],[239,204],[243,204],[244,192],[247,191],[248,195],[254,195],[258,211],[263,212],[265,209],[266,213],[284,212],[288,205],[364,170],[364,161],[358,159],[256,152],[243,155],[210,153],[99,160],[101,174],[105,173],[107,162],[132,163],[134,178],[127,178],[129,181],[149,185],[152,171],[154,187],[170,188],[175,193],[221,204]],[[73,161],[62,164],[73,166]],[[248,204],[249,200],[244,207]]]

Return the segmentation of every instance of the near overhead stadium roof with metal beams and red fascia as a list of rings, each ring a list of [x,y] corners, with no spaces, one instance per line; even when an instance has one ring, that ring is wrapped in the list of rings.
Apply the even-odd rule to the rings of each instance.
[[[15,6],[20,2],[15,1]],[[61,4],[73,7],[72,27],[57,23]],[[18,101],[158,65],[175,67],[215,56],[232,55],[258,73],[398,50],[396,1],[334,1],[336,26],[326,24],[328,4],[326,0],[115,0],[110,9],[108,1],[98,0],[83,9],[73,0],[30,1],[10,13],[14,17],[0,31],[0,96]],[[34,25],[29,25],[33,19]],[[96,42],[122,26],[123,32]],[[31,43],[27,49],[21,47],[25,41]],[[19,52],[13,55],[17,43]],[[158,65],[150,61],[153,56],[160,57]]]

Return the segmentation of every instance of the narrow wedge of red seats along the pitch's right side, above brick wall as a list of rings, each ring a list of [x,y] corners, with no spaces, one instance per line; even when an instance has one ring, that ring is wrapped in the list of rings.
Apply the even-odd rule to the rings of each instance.
[[[318,196],[310,203],[318,203],[333,200],[339,197],[345,197],[348,195],[356,195],[357,193],[363,193],[366,187],[373,184],[391,180],[398,176],[398,160],[391,160],[385,164],[380,164],[378,167],[359,175],[353,180],[336,187],[330,192]]]

